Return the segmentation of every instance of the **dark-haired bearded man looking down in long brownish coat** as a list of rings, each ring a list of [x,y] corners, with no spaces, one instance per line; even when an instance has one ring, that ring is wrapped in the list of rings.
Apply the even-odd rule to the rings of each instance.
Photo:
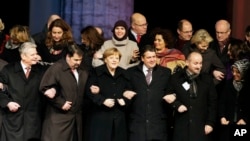
[[[82,50],[72,44],[66,56],[45,72],[40,84],[47,97],[42,141],[82,141],[83,94],[88,73],[80,66]]]

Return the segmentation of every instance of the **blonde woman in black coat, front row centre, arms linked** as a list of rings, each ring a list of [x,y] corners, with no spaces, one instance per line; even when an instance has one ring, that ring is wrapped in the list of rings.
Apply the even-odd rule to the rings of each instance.
[[[118,67],[121,53],[109,48],[103,54],[105,64],[95,68],[89,77],[87,96],[94,106],[90,115],[88,140],[126,141],[126,99],[123,93],[129,88],[126,71]],[[98,89],[98,91],[94,91]]]

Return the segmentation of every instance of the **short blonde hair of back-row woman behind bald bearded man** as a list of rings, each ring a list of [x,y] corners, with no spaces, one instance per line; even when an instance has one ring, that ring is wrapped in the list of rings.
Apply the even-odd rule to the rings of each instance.
[[[199,29],[197,30],[193,37],[191,38],[191,44],[200,44],[202,42],[210,43],[213,41],[212,36],[208,33],[205,29]]]

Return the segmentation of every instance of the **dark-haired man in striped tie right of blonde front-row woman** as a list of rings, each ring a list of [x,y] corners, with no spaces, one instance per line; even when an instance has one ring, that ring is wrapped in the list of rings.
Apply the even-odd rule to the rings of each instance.
[[[167,140],[167,108],[163,100],[166,94],[171,70],[156,64],[155,48],[146,45],[141,52],[143,63],[129,68],[133,98],[129,107],[129,140],[130,141],[166,141]],[[152,75],[147,75],[148,70]],[[139,82],[139,83],[138,83]],[[133,94],[132,94],[133,95]]]

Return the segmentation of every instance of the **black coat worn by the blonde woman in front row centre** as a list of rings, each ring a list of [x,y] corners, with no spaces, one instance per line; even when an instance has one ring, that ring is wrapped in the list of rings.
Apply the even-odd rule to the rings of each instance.
[[[99,94],[90,92],[89,88],[91,85],[96,85],[100,88]],[[94,103],[89,118],[89,128],[87,129],[89,130],[87,131],[89,132],[89,137],[87,137],[87,140],[127,140],[126,106],[120,106],[117,99],[123,98],[123,92],[128,89],[129,76],[124,69],[116,68],[115,75],[112,76],[106,64],[95,68],[87,83],[87,96]],[[114,107],[109,108],[103,104],[107,98],[116,100]],[[123,99],[126,100],[125,98]]]

